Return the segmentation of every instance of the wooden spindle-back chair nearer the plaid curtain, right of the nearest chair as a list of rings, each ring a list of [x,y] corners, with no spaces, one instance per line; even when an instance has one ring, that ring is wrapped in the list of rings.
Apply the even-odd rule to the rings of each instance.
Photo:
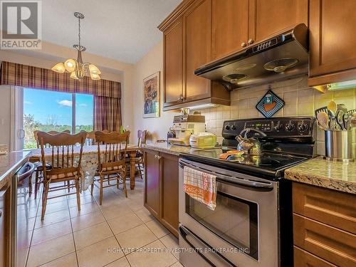
[[[125,155],[127,144],[129,142],[130,132],[120,134],[120,132],[95,132],[95,140],[98,142],[98,171],[99,179],[94,178],[91,185],[91,194],[93,195],[95,183],[100,184],[100,205],[103,204],[103,189],[106,187],[114,187],[119,189],[119,184],[122,184],[127,197],[127,189],[125,183],[126,177],[126,161]],[[115,180],[116,184],[110,184],[110,181]],[[104,186],[103,183],[108,182]]]

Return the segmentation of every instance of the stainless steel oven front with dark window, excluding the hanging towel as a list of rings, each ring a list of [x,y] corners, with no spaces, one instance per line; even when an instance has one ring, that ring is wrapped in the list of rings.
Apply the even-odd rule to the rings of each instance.
[[[184,167],[216,175],[216,209],[183,191]],[[179,261],[185,266],[281,266],[279,182],[179,159]]]

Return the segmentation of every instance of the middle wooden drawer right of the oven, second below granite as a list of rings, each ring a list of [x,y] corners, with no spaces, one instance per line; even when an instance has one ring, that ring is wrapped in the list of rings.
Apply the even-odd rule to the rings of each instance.
[[[295,246],[337,266],[356,266],[356,235],[293,214]]]

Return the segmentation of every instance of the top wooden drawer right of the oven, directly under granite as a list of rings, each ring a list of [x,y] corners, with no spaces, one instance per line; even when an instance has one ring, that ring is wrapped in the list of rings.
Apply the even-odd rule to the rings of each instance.
[[[293,183],[293,212],[356,234],[356,197],[330,189]]]

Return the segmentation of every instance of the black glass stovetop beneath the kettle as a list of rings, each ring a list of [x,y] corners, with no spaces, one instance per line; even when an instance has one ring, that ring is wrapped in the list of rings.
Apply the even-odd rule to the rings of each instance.
[[[184,157],[205,164],[213,164],[216,167],[226,167],[234,171],[267,177],[283,177],[284,169],[309,158],[276,152],[263,152],[262,155],[258,156],[242,155],[238,157],[231,155],[227,159],[219,158],[219,155],[229,150],[234,149],[219,147],[209,150],[195,150],[189,154],[184,154]]]

